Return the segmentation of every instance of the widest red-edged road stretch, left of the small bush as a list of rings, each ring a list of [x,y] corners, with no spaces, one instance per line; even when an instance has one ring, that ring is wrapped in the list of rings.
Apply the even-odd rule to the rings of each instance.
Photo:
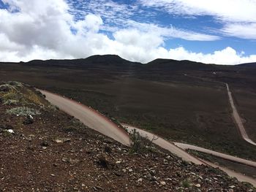
[[[57,94],[48,91],[39,91],[46,96],[46,99],[50,101],[51,104],[56,105],[60,110],[67,112],[67,114],[78,118],[86,126],[89,126],[89,128],[113,138],[123,145],[129,145],[129,135],[127,132],[116,126],[115,123],[105,118],[105,116],[101,115],[99,112]]]

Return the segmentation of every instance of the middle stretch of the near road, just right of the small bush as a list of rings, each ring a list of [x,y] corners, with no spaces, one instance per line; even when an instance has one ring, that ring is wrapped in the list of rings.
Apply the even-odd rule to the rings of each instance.
[[[122,123],[122,126],[124,126],[124,128],[127,128],[129,132],[132,132],[133,129],[135,129],[136,131],[139,132],[139,134],[142,137],[146,137],[149,140],[151,140],[154,136],[156,136],[155,134],[151,134],[148,131],[144,131],[140,128],[135,128],[133,126],[129,126],[127,124]],[[175,145],[173,145],[171,142],[167,142],[165,139],[162,139],[161,137],[157,137],[157,140],[154,140],[154,144],[164,148],[165,150],[169,150],[171,153],[177,155],[178,157],[182,158],[184,161],[191,161],[194,164],[204,164],[203,161],[201,161],[199,158],[195,158],[194,156],[190,155],[189,153],[187,153],[186,151],[182,150],[179,147],[176,147]]]

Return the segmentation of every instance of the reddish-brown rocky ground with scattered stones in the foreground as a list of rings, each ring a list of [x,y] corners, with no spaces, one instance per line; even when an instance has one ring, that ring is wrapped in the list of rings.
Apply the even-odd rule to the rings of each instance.
[[[254,191],[150,147],[131,153],[18,82],[0,83],[0,191]]]

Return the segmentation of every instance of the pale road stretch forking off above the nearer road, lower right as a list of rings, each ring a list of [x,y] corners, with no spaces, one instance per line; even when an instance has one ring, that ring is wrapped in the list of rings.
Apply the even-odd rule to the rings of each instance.
[[[233,162],[236,162],[236,163],[239,163],[239,164],[245,164],[245,165],[248,165],[248,166],[256,167],[256,162],[249,161],[249,160],[246,160],[244,158],[237,158],[237,157],[234,157],[232,155],[219,153],[219,152],[214,151],[214,150],[208,150],[208,149],[203,148],[203,147],[197,147],[195,145],[189,145],[189,144],[185,144],[185,143],[181,143],[181,142],[174,142],[174,145],[180,147],[183,150],[196,150],[196,151],[199,151],[199,152],[214,155],[214,156],[219,157],[219,158],[224,158],[224,159],[227,159],[229,161],[233,161]]]

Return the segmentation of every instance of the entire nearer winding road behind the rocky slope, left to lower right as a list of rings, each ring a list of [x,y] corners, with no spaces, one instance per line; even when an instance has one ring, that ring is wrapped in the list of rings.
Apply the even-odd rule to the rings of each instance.
[[[91,107],[87,107],[86,105],[80,104],[76,101],[73,101],[72,99],[67,99],[62,96],[59,96],[55,93],[50,93],[48,91],[41,91],[50,103],[56,105],[59,107],[60,110],[67,112],[67,114],[74,116],[75,118],[78,118],[82,123],[84,123],[86,126],[89,126],[90,128],[93,128],[96,131],[99,131],[102,134],[105,134],[106,136],[115,139],[116,141],[122,143],[123,145],[129,145],[129,135],[127,134],[124,129],[119,128],[115,123],[110,121],[105,116],[101,115],[96,110],[91,109]],[[126,126],[129,130],[132,130],[135,127],[132,126]],[[143,131],[139,128],[135,128],[145,137],[148,137],[148,139],[151,139],[154,137],[154,134],[151,134],[147,131]],[[219,167],[219,169],[222,169],[227,174],[230,175],[230,177],[236,177],[240,181],[245,181],[252,183],[256,187],[256,180],[254,180],[252,177],[247,177],[243,174],[233,172],[230,169],[227,169],[222,166],[217,166],[215,164],[211,164],[210,162],[206,162],[203,160],[200,160],[199,158],[195,158],[194,156],[190,155],[186,151],[182,150],[180,147],[177,147],[176,145],[173,145],[171,142],[167,142],[165,139],[158,138],[157,140],[153,141],[156,145],[159,145],[160,147],[165,148],[166,150],[169,150],[171,153],[176,154],[178,157],[184,159],[185,161],[192,161],[195,164],[208,164],[210,166]],[[222,153],[220,153],[221,155]],[[223,154],[225,155],[225,154]],[[234,159],[236,161],[236,159]]]

